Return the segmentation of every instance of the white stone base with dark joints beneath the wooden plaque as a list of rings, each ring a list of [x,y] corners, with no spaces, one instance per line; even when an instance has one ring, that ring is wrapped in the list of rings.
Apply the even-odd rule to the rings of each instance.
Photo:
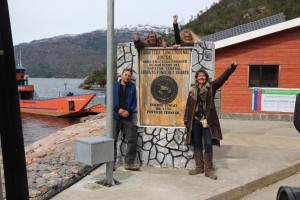
[[[136,163],[156,167],[192,168],[193,146],[185,145],[185,129],[138,128]],[[118,163],[124,163],[126,141],[122,133],[118,141]]]

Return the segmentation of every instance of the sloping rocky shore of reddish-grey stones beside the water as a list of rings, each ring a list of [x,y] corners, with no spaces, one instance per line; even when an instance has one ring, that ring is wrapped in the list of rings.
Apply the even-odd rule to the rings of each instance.
[[[76,161],[74,144],[77,138],[103,135],[106,118],[92,116],[82,121],[26,146],[30,199],[49,199],[98,167]]]

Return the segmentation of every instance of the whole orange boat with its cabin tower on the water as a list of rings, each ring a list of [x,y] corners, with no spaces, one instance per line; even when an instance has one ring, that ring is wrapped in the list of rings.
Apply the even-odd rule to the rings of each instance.
[[[18,95],[21,112],[50,115],[55,117],[79,117],[87,115],[86,106],[96,94],[73,95],[50,99],[39,99],[33,85],[28,85],[26,68],[16,67]]]

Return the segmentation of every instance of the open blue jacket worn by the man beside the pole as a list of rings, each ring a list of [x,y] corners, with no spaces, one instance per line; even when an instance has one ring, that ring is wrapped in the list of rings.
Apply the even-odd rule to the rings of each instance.
[[[118,111],[119,106],[119,90],[120,90],[120,80],[114,83],[114,119],[119,119]],[[132,113],[137,106],[136,88],[135,84],[129,83],[126,87],[126,108],[129,111],[129,116],[127,119],[132,119]]]

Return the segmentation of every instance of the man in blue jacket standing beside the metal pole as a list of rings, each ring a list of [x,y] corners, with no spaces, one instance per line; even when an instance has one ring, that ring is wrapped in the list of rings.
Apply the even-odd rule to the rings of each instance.
[[[137,128],[132,121],[133,111],[137,106],[136,88],[130,82],[131,69],[124,69],[121,79],[114,83],[114,170],[116,169],[117,140],[120,130],[127,140],[125,155],[125,169],[139,170],[140,166],[134,163],[137,150]]]

